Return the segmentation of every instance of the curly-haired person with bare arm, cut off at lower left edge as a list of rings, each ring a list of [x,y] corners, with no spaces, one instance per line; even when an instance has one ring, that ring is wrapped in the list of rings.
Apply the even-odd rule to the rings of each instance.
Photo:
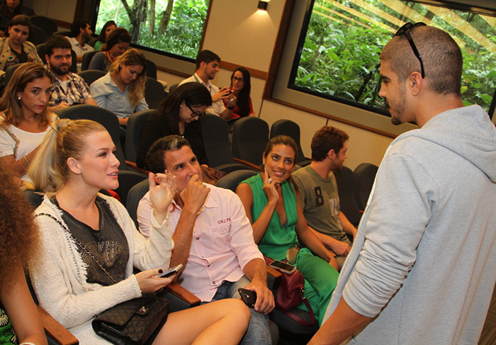
[[[1,163],[0,181],[0,344],[47,344],[23,270],[38,230],[15,176]]]

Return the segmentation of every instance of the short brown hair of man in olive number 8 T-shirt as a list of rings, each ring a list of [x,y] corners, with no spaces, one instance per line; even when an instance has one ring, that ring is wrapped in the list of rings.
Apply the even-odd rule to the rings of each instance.
[[[344,130],[331,126],[320,128],[313,135],[312,144],[310,144],[312,161],[322,162],[332,149],[338,154],[346,140],[349,140],[349,135]]]

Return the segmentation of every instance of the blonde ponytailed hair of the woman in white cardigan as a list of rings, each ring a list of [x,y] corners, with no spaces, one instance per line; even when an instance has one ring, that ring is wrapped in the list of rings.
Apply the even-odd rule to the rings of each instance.
[[[28,170],[35,191],[53,196],[60,191],[70,176],[67,159],[81,159],[86,137],[106,131],[100,123],[91,120],[60,119],[52,123]]]

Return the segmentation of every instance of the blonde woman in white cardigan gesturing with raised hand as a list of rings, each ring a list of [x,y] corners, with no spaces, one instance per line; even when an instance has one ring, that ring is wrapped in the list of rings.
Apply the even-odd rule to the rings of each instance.
[[[40,305],[79,344],[108,344],[92,329],[94,316],[142,292],[157,291],[174,278],[157,275],[169,267],[174,247],[167,209],[176,181],[150,174],[154,219],[145,239],[123,205],[98,194],[101,188],[118,187],[114,151],[110,135],[98,123],[57,120],[29,171],[35,190],[45,191],[35,211],[41,250],[31,261],[30,276]],[[198,189],[196,199],[207,194]],[[133,266],[144,271],[133,275]],[[237,344],[247,329],[249,310],[239,300],[220,302],[171,313],[154,344],[218,344],[219,339]]]

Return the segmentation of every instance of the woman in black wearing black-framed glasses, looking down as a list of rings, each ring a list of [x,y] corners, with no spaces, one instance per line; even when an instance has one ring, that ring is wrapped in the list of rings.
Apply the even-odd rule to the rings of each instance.
[[[137,166],[146,169],[145,157],[152,144],[167,135],[186,138],[200,164],[208,166],[198,118],[212,105],[212,96],[200,83],[182,84],[165,98],[162,106],[147,118],[137,153]]]

